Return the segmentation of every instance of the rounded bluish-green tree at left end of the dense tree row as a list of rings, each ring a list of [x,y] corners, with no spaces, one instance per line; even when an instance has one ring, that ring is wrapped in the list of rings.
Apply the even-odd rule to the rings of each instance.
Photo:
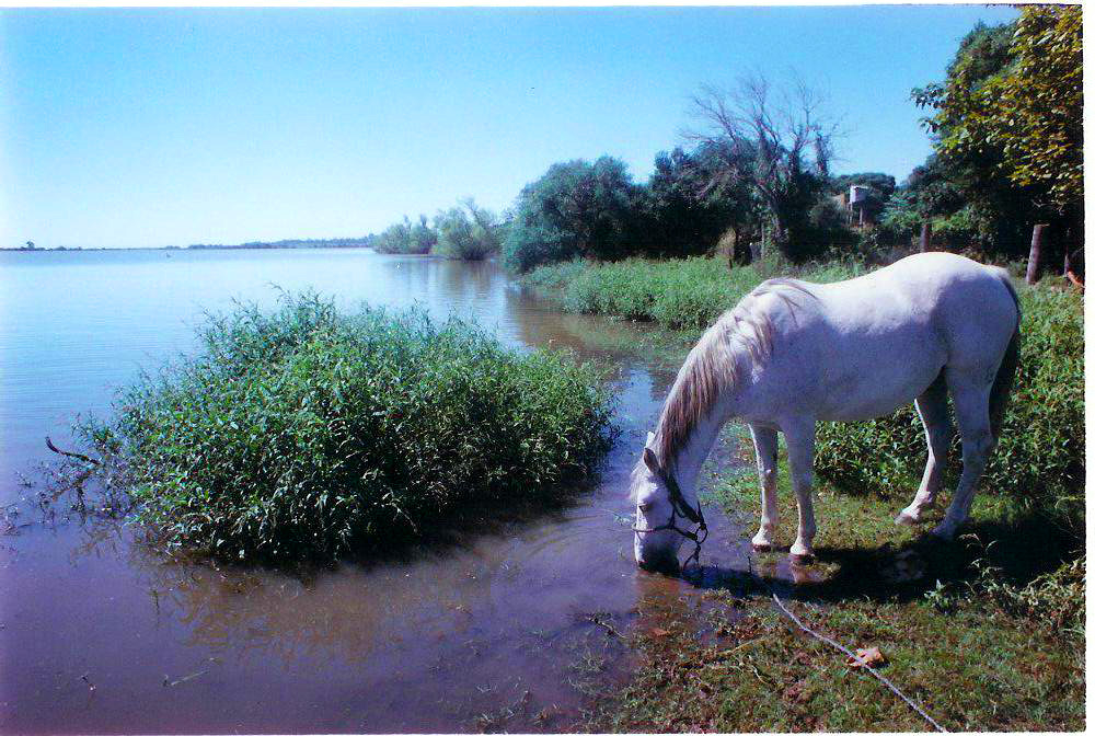
[[[638,197],[619,159],[555,163],[518,195],[505,262],[525,272],[575,256],[621,257],[635,232]]]

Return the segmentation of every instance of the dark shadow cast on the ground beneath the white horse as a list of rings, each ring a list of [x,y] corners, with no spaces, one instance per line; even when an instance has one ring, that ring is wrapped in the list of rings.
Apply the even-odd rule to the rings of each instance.
[[[783,563],[783,550],[750,560],[748,570],[707,566],[684,576],[698,587],[738,595],[774,589],[818,602],[908,602],[940,585],[971,583],[990,567],[998,579],[1022,587],[1082,548],[1082,540],[1030,514],[1007,522],[970,521],[952,542],[925,532],[899,545],[823,547],[816,550],[815,565]]]

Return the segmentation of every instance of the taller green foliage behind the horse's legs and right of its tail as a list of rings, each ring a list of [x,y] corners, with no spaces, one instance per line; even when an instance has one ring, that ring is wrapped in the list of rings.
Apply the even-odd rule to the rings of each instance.
[[[1019,294],[1022,361],[981,485],[1080,533],[1086,465],[1082,299],[1049,287]],[[952,475],[961,467],[958,447],[956,438]],[[818,425],[817,473],[845,491],[907,496],[925,458],[923,428],[912,406],[871,422]],[[956,476],[949,480],[953,484]]]

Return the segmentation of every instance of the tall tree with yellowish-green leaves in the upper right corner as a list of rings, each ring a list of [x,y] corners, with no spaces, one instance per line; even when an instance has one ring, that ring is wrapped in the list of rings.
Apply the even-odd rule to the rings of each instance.
[[[943,83],[913,90],[935,111],[936,150],[995,223],[992,250],[1023,252],[1036,222],[1056,250],[1083,218],[1082,20],[1079,7],[1028,5],[1007,25],[978,25]],[[1052,242],[1052,241],[1051,241]]]

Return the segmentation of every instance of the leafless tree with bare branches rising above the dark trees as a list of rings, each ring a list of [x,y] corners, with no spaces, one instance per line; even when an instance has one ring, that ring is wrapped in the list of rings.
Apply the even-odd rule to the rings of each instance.
[[[792,260],[811,255],[796,237],[809,229],[839,133],[821,95],[800,81],[775,93],[766,79],[750,76],[730,92],[704,88],[692,107],[704,129],[688,137],[721,153],[712,183],[745,182],[766,210],[776,248]]]

